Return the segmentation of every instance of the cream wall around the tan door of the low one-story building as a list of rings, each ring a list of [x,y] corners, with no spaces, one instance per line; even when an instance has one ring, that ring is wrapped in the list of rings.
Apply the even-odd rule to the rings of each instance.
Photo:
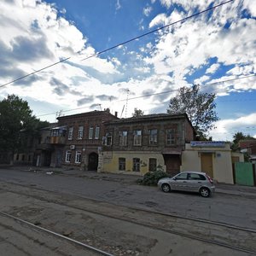
[[[182,154],[181,171],[197,171],[201,170],[201,154],[212,154],[212,171],[214,180],[220,183],[233,184],[233,170],[230,144],[225,143],[223,148],[208,148],[208,147],[191,147],[186,144],[186,149]]]

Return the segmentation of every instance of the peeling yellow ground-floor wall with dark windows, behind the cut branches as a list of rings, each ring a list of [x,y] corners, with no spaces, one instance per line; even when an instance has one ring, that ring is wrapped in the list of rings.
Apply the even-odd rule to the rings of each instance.
[[[101,172],[113,173],[129,173],[143,176],[148,172],[149,158],[156,159],[156,166],[162,166],[163,171],[166,172],[165,161],[162,154],[155,152],[137,152],[137,151],[121,151],[121,152],[103,152],[102,169]],[[125,171],[119,171],[119,158],[125,158]],[[133,158],[141,160],[140,172],[133,172]]]

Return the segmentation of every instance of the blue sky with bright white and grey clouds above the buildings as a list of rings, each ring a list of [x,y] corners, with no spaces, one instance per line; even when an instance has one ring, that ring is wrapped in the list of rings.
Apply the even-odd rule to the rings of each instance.
[[[179,88],[200,84],[216,94],[213,140],[256,138],[253,2],[195,15],[223,1],[1,0],[0,100],[15,94],[49,122],[106,108],[128,118],[166,113]]]

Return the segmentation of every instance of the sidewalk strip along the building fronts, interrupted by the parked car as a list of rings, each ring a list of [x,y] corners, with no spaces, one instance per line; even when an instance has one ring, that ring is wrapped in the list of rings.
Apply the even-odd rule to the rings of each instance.
[[[61,168],[61,167],[37,167],[37,166],[9,166],[4,169],[12,169],[23,172],[42,172],[47,175],[65,175],[74,177],[87,177],[91,179],[108,180],[119,183],[136,184],[137,179],[141,176],[124,174],[124,173],[108,173],[81,171],[78,168]],[[247,198],[256,199],[256,186],[249,187],[238,184],[215,183],[216,193],[227,195],[239,195]]]

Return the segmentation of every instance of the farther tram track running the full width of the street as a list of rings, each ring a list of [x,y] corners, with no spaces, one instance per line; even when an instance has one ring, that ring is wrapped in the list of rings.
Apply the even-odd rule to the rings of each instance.
[[[256,230],[196,218],[178,217],[161,212],[150,212],[134,207],[120,207],[103,201],[95,201],[78,195],[54,193],[46,189],[12,183],[12,189],[0,191],[32,197],[38,201],[58,204],[83,212],[118,219],[148,229],[159,230],[175,236],[203,241],[248,254],[256,254]],[[14,187],[16,186],[16,188]],[[108,209],[108,210],[107,210]],[[108,213],[106,213],[108,212]]]

